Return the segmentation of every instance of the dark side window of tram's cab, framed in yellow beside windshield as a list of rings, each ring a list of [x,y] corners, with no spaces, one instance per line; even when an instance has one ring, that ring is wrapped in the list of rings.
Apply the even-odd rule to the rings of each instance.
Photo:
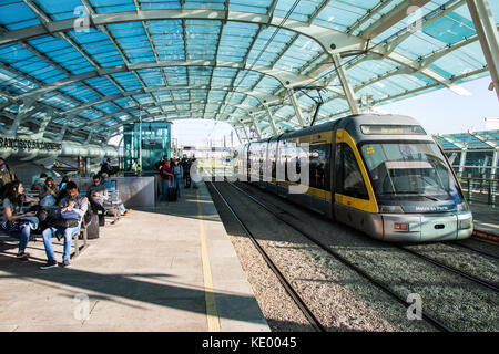
[[[340,143],[336,155],[336,191],[344,196],[369,199],[363,174],[352,148]]]

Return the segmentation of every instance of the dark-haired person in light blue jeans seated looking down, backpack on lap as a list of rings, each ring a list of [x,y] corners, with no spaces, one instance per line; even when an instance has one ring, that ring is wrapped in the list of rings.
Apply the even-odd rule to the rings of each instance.
[[[80,191],[78,190],[78,186],[74,181],[69,181],[65,190],[68,195],[62,198],[59,202],[59,208],[62,218],[78,218],[79,223],[73,228],[48,228],[43,231],[43,244],[45,247],[47,253],[47,264],[40,267],[40,269],[49,269],[52,267],[58,267],[58,262],[55,261],[55,254],[52,249],[52,236],[62,235],[64,237],[64,253],[62,256],[62,267],[71,267],[70,257],[71,257],[71,241],[72,237],[75,233],[80,232],[81,222],[83,217],[89,208],[89,200],[84,196],[80,196]]]

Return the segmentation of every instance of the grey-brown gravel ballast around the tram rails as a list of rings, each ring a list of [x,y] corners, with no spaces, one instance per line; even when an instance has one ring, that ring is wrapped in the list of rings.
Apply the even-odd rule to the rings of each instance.
[[[237,184],[237,186],[251,191],[265,205],[272,205],[273,210],[281,211],[281,217],[302,229],[305,228],[305,231],[313,233],[323,243],[389,285],[401,298],[405,299],[408,294],[420,295],[424,311],[435,315],[451,329],[497,331],[496,292],[398,250],[389,243],[373,240],[349,227],[334,223],[322,216],[291,205],[276,196],[246,185]],[[435,330],[424,321],[407,320],[407,309],[404,305],[304,239],[299,232],[285,226],[233,187],[224,184],[217,184],[217,187],[230,202],[234,204],[236,212],[248,228],[251,227],[274,262],[306,299],[307,304],[313,309],[316,308],[314,312],[317,311],[317,317],[329,331]],[[218,207],[220,202],[216,205]],[[222,212],[221,217],[224,223],[230,219]],[[246,236],[240,235],[238,238]],[[233,242],[237,244],[234,239]],[[237,251],[242,263],[246,262],[244,258],[249,247],[253,248],[253,244],[244,244]],[[488,277],[488,281],[497,279],[497,262],[470,250],[457,249],[445,243],[411,247],[425,256],[448,262],[449,266],[466,268],[464,270],[480,274],[481,278]],[[244,264],[243,268],[248,272],[248,278],[252,278],[249,273],[253,269]],[[254,280],[258,282],[259,277],[254,275]],[[251,282],[255,288],[255,283]],[[268,296],[272,298],[269,294]],[[274,310],[274,306],[281,306],[281,304],[273,305],[265,299],[258,301],[262,301],[263,310],[267,306]],[[264,314],[267,316],[265,311]]]

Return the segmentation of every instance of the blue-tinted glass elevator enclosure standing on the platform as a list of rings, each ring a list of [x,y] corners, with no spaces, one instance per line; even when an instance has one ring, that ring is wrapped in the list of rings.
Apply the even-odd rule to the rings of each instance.
[[[171,133],[170,122],[142,123],[142,132],[139,123],[124,125],[124,169],[130,171],[133,160],[140,159],[142,143],[142,171],[155,170],[154,164],[163,155],[172,157]]]

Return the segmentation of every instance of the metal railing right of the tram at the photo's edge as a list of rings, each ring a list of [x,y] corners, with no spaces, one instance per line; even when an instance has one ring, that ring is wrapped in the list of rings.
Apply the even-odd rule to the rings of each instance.
[[[459,181],[468,201],[499,206],[499,179],[461,177]]]

